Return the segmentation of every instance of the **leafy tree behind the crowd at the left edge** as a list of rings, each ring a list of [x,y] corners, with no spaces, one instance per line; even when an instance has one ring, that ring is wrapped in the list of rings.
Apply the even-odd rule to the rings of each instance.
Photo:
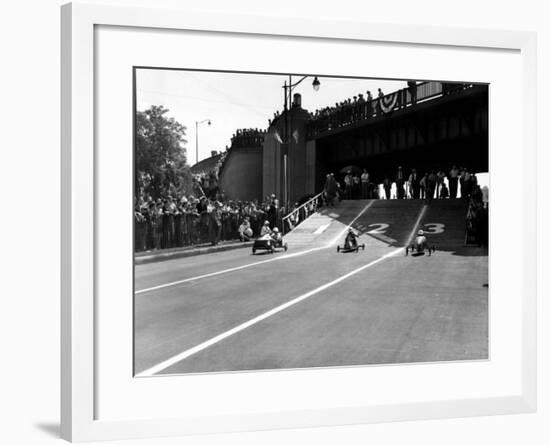
[[[188,193],[192,177],[187,165],[186,127],[170,110],[153,105],[136,116],[135,195],[154,199],[173,193]]]

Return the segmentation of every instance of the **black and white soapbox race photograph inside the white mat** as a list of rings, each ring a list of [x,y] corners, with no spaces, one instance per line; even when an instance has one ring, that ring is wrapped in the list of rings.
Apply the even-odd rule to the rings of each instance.
[[[490,85],[133,82],[136,377],[490,358]]]

